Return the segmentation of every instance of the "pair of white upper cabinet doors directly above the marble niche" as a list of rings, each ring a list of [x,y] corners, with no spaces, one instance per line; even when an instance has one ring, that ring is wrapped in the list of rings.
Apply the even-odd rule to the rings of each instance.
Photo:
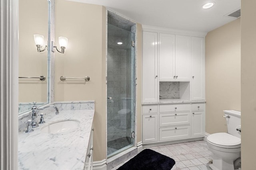
[[[190,68],[190,36],[159,33],[159,80],[189,81]]]

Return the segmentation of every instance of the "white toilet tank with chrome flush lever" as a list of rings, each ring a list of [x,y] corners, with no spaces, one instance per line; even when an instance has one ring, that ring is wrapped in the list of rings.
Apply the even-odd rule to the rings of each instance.
[[[224,110],[228,133],[241,138],[241,133],[236,129],[241,128],[241,112],[236,110]],[[230,118],[228,118],[230,116]]]

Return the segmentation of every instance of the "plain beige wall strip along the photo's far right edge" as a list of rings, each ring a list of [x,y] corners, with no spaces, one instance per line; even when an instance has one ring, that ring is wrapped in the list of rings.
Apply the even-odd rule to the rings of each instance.
[[[242,170],[256,170],[256,0],[241,1]]]

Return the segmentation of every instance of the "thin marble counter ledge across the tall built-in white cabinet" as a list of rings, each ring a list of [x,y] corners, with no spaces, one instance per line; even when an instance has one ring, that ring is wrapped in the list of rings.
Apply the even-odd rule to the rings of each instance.
[[[142,102],[143,105],[151,104],[189,104],[189,103],[205,103],[206,100],[185,100],[185,99],[160,99],[159,102]]]

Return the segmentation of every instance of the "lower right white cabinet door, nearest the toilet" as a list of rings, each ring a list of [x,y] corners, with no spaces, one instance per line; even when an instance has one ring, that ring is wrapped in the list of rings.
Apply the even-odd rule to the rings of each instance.
[[[192,137],[202,137],[205,133],[204,111],[192,111]]]

